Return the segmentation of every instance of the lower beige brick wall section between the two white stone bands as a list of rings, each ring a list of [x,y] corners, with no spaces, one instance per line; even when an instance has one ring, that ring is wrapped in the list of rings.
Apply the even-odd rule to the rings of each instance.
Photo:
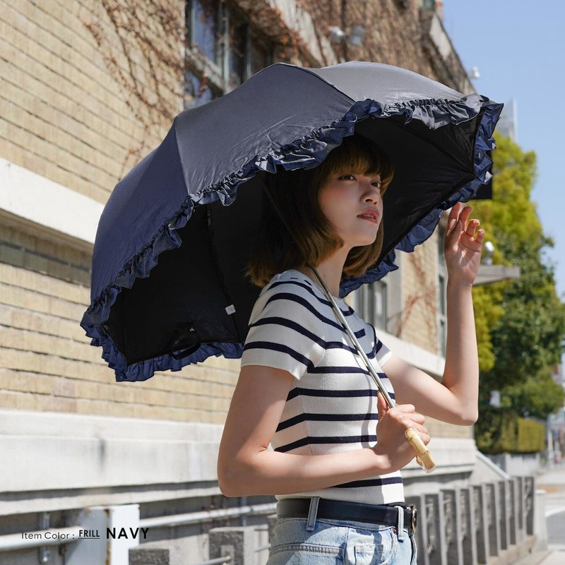
[[[89,271],[88,252],[0,225],[0,407],[222,423],[237,361],[114,381],[78,325]]]

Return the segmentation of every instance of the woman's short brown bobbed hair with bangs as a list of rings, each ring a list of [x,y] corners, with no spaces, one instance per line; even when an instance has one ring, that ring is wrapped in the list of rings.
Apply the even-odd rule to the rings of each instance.
[[[283,270],[304,264],[317,266],[343,245],[343,240],[323,215],[318,197],[328,179],[344,172],[380,174],[382,191],[393,179],[393,165],[388,155],[358,134],[344,138],[341,145],[314,169],[285,171],[281,168],[276,174],[266,174],[267,189],[287,226],[266,195],[256,250],[247,268],[247,275],[254,284],[263,287]],[[354,247],[350,251],[342,278],[360,276],[374,265],[382,244],[381,222],[373,244]]]

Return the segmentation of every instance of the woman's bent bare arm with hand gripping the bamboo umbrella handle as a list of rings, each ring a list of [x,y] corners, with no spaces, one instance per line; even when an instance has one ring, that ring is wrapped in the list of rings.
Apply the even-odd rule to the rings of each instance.
[[[383,475],[402,468],[415,456],[404,437],[405,429],[417,429],[424,443],[429,442],[424,417],[413,406],[386,411],[379,399],[382,439],[375,448],[316,456],[270,451],[268,444],[292,379],[281,369],[242,368],[218,456],[218,480],[226,496],[307,492]]]

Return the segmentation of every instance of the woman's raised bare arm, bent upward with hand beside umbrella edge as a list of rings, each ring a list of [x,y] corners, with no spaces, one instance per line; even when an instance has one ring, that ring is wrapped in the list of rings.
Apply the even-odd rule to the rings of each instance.
[[[468,221],[472,208],[458,204],[449,214],[446,233],[447,344],[441,383],[398,357],[384,371],[393,381],[396,398],[412,403],[419,412],[452,424],[470,425],[477,420],[479,361],[471,288],[480,264],[484,232],[478,220]]]

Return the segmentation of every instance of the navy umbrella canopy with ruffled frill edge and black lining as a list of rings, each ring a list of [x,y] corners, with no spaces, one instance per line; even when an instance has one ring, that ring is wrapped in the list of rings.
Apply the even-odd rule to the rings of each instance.
[[[315,167],[354,132],[391,156],[383,251],[361,278],[343,281],[345,295],[395,268],[395,248],[412,251],[442,210],[487,180],[500,111],[487,98],[383,64],[264,69],[179,114],[117,184],[100,218],[81,325],[119,381],[210,355],[239,357],[260,291],[244,270],[265,174]]]

